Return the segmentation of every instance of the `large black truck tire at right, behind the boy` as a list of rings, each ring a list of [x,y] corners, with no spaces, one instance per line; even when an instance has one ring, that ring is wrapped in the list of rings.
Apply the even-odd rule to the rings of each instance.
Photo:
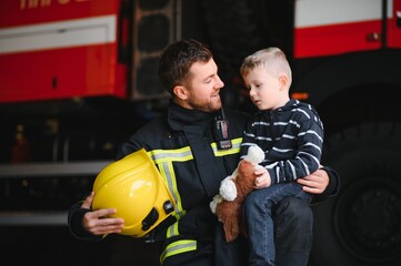
[[[400,265],[401,124],[363,124],[328,137],[322,163],[341,186],[312,206],[310,265]]]

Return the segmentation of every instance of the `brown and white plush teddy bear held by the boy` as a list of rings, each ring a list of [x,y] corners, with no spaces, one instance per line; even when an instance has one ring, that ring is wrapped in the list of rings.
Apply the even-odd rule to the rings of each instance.
[[[259,164],[263,158],[262,149],[258,145],[250,146],[235,171],[221,181],[219,194],[210,202],[210,209],[223,223],[227,242],[234,241],[240,234],[242,204],[254,187],[254,171],[262,167]]]

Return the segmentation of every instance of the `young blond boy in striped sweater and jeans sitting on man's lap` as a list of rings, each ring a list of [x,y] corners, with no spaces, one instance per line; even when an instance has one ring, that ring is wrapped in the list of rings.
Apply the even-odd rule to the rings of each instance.
[[[323,124],[310,104],[290,99],[291,68],[279,48],[247,57],[240,72],[259,109],[247,123],[241,154],[247,154],[249,146],[255,144],[265,153],[264,168],[257,172],[257,190],[243,206],[249,265],[275,265],[272,208],[288,196],[310,203],[311,194],[294,181],[319,168]]]

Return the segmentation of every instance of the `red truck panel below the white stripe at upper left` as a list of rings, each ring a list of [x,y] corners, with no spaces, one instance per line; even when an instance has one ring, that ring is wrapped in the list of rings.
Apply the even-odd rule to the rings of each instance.
[[[126,96],[116,44],[1,57],[0,102],[76,96]]]

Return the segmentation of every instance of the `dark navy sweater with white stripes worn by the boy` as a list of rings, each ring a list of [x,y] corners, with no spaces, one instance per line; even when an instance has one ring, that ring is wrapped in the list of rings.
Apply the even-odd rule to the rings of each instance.
[[[269,171],[271,184],[294,181],[319,168],[323,124],[310,104],[290,100],[282,108],[252,115],[243,132],[242,157],[253,144],[264,151],[261,165]]]

